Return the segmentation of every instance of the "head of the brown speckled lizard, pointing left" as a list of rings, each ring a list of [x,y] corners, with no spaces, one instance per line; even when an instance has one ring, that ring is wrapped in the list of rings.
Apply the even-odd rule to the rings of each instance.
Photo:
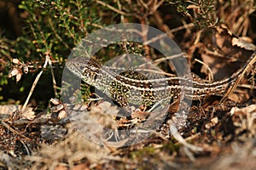
[[[77,77],[80,77],[84,82],[95,85],[96,76],[101,70],[102,65],[94,59],[86,57],[76,57],[68,59],[66,67]]]

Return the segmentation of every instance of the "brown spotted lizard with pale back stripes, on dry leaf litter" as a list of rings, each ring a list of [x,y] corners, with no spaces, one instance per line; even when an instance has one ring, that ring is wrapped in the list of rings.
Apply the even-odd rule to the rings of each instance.
[[[245,65],[231,77],[212,83],[196,82],[184,77],[165,77],[148,79],[136,71],[118,74],[95,59],[77,57],[67,60],[67,69],[84,82],[107,94],[121,106],[154,105],[159,100],[170,102],[177,99],[183,88],[184,97],[201,99],[208,94],[224,94],[236,82],[247,64],[254,58],[254,52]],[[136,75],[133,77],[132,75]],[[183,82],[181,84],[181,82]],[[192,86],[187,86],[190,84]]]

